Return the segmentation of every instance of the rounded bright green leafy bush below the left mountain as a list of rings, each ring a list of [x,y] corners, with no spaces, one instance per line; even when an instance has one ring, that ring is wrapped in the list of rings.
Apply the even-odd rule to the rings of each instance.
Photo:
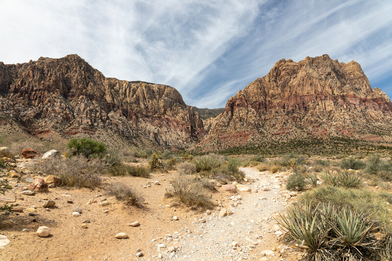
[[[69,156],[83,155],[86,158],[101,158],[106,152],[106,146],[103,142],[97,142],[89,138],[81,138],[79,141],[72,138],[67,143],[67,147],[70,150],[67,153]]]

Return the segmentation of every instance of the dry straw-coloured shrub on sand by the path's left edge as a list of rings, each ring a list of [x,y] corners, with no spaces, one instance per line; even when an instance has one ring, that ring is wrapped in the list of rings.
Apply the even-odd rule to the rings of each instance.
[[[212,207],[211,200],[207,197],[207,190],[203,184],[192,176],[177,175],[172,180],[172,189],[166,190],[166,197],[175,197],[183,204],[196,208]]]

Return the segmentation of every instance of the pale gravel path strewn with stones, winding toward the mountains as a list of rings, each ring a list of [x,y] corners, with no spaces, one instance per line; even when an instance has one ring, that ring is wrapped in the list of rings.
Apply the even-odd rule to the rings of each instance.
[[[284,174],[269,174],[249,167],[241,170],[249,181],[245,185],[253,191],[233,193],[241,195],[241,204],[236,207],[229,204],[239,201],[227,198],[222,202],[223,207],[232,210],[232,215],[218,218],[217,212],[205,214],[205,223],[195,220],[193,233],[185,233],[178,241],[178,251],[166,251],[163,260],[281,260],[280,252],[274,249],[278,249],[280,237],[275,235],[276,222],[272,216],[284,212],[287,205],[282,196],[288,191],[279,186]],[[270,190],[263,191],[262,187]],[[238,245],[233,247],[233,242]]]

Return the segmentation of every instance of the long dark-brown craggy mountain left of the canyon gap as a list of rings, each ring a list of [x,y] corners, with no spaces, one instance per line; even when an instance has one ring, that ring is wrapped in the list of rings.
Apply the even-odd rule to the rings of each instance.
[[[106,78],[77,55],[0,62],[0,125],[33,135],[115,133],[184,148],[205,134],[202,120],[174,88]]]

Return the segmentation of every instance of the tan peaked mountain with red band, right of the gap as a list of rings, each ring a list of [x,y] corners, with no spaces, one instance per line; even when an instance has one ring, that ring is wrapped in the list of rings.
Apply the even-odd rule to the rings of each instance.
[[[231,97],[197,149],[216,150],[311,138],[390,142],[392,103],[361,66],[328,55],[282,59]]]

